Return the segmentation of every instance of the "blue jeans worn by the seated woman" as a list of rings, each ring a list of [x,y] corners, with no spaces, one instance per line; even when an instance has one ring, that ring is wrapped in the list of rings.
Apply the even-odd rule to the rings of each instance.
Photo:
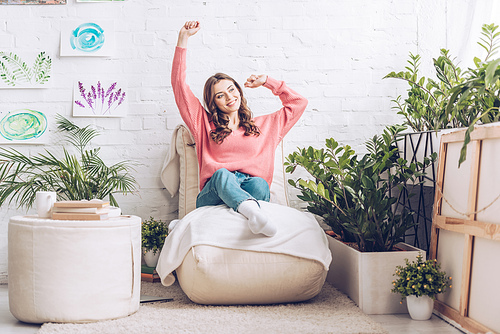
[[[196,207],[226,203],[234,211],[241,202],[253,199],[269,202],[270,192],[266,180],[248,174],[218,169],[196,198]]]

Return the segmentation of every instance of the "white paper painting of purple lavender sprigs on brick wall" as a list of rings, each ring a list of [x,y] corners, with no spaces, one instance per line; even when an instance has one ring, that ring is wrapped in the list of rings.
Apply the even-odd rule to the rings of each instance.
[[[97,84],[75,84],[73,116],[75,117],[124,117],[128,103],[125,90],[117,81],[98,80]]]

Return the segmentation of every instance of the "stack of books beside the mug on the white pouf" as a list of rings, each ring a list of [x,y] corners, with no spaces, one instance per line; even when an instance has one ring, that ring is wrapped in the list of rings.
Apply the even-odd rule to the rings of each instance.
[[[59,201],[52,208],[52,219],[55,220],[104,220],[108,215],[109,202],[98,199]]]

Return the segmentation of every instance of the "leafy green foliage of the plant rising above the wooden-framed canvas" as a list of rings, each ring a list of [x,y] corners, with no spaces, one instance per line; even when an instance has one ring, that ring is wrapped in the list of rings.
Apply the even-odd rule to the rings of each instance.
[[[406,71],[391,72],[385,78],[405,80],[408,96],[398,96],[394,109],[405,118],[405,125],[414,131],[467,128],[460,153],[459,165],[465,161],[470,133],[476,124],[498,122],[500,119],[500,59],[492,60],[500,47],[500,32],[495,24],[482,27],[478,44],[486,57],[474,58],[475,68],[462,70],[442,49],[433,59],[437,81],[418,77],[420,56],[410,53]]]

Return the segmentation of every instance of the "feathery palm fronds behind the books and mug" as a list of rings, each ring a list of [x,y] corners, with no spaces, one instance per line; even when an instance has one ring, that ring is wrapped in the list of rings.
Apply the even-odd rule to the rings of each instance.
[[[13,148],[0,147],[0,205],[16,202],[18,207],[33,206],[37,191],[55,191],[58,200],[109,198],[118,206],[115,194],[132,193],[136,180],[131,175],[133,162],[107,166],[99,157],[100,148],[87,148],[99,132],[79,127],[57,115],[57,128],[76,148],[71,154],[63,148],[61,158],[45,150],[30,157]]]

